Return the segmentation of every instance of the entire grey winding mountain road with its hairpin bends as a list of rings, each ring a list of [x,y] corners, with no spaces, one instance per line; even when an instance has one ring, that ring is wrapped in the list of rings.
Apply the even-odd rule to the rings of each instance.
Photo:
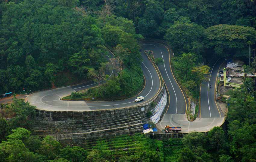
[[[158,130],[164,129],[165,125],[181,126],[182,132],[192,131],[209,131],[214,126],[223,124],[225,118],[223,113],[217,107],[215,102],[214,85],[218,68],[220,67],[220,60],[214,60],[209,66],[212,68],[211,75],[208,82],[203,82],[201,86],[201,102],[199,116],[194,122],[189,122],[186,119],[186,110],[188,108],[188,101],[176,82],[171,71],[170,64],[170,50],[167,46],[159,43],[144,43],[142,48],[142,70],[145,76],[145,87],[137,96],[145,96],[145,100],[139,103],[134,102],[135,97],[120,101],[61,101],[60,98],[70,95],[74,91],[84,90],[95,86],[96,83],[86,82],[80,85],[69,86],[64,88],[56,88],[46,91],[39,91],[28,95],[26,100],[30,104],[37,107],[39,110],[51,111],[91,111],[91,110],[106,110],[139,106],[152,101],[158,94],[161,88],[160,76],[156,71],[156,67],[150,62],[145,50],[153,52],[154,57],[159,57],[164,60],[164,64],[159,65],[158,68],[164,79],[164,84],[167,88],[169,103],[166,114],[163,119],[156,125]],[[208,91],[208,84],[212,88]],[[211,113],[211,114],[210,114]],[[218,116],[219,114],[219,116]]]

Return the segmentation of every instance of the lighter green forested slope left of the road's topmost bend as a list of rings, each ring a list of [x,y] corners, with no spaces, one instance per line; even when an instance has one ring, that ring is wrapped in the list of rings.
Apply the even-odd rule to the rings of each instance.
[[[136,42],[142,36],[136,34],[133,21],[108,15],[104,10],[97,16],[90,15],[76,5],[76,1],[47,0],[1,3],[2,93],[63,86],[75,78],[93,79],[108,62],[105,45],[122,60],[120,73],[124,77],[109,79],[104,88],[115,85],[111,95],[122,88],[128,93],[123,95],[128,96],[140,90],[143,76]],[[131,73],[139,80],[135,82],[137,89],[127,86]],[[108,95],[102,94],[104,88],[97,92],[100,96]]]

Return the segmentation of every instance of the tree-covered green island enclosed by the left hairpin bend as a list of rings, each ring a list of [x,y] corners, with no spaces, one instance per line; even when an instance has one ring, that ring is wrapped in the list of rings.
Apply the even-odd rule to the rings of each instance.
[[[135,95],[142,89],[143,73],[139,66],[125,68],[119,76],[110,77],[99,87],[90,88],[85,93],[73,92],[64,99],[97,98],[102,100],[122,99]]]

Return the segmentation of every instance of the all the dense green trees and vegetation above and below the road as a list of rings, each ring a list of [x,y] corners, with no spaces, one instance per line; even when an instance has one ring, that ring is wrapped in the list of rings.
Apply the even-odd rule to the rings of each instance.
[[[90,93],[131,96],[143,84],[139,41],[155,38],[171,46],[174,75],[188,95],[198,98],[202,75],[209,70],[203,63],[211,58],[239,57],[255,68],[255,28],[254,0],[2,0],[0,92],[95,79],[94,73],[108,64],[107,47],[120,70],[102,77],[106,83]],[[0,162],[255,162],[256,92],[247,81],[246,88],[229,92],[225,100],[226,126],[207,136],[158,141],[127,135],[84,148],[34,136],[28,126],[34,107],[14,98],[0,107]]]

